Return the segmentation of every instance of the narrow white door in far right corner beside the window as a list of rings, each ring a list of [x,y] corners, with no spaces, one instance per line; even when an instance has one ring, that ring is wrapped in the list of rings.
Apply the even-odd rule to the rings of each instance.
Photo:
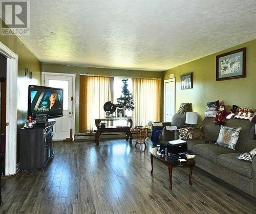
[[[172,122],[175,113],[175,78],[164,81],[164,122]]]

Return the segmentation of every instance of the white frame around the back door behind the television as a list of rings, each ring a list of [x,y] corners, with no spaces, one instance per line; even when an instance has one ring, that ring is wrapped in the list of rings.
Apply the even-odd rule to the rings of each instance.
[[[52,73],[52,72],[42,72],[41,73],[41,85],[44,86],[45,85],[45,75],[50,75],[50,76],[72,76],[72,97],[73,97],[73,101],[72,101],[72,138],[73,140],[75,139],[75,84],[76,84],[76,75],[75,74],[66,74],[66,73]]]

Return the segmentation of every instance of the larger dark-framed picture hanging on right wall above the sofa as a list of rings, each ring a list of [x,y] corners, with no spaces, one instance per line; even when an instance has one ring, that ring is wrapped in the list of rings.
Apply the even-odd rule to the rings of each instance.
[[[245,78],[246,48],[216,56],[216,81]]]

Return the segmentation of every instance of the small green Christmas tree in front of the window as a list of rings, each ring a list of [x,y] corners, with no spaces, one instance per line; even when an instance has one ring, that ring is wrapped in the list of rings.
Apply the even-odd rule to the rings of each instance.
[[[123,79],[122,95],[120,98],[117,98],[116,107],[125,108],[128,110],[134,110],[133,94],[127,89],[128,79]]]

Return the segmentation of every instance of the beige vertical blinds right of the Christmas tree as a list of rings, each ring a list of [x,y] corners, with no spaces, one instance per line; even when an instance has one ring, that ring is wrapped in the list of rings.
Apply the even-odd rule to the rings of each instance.
[[[132,81],[134,126],[145,126],[148,121],[160,121],[161,80],[132,78]]]

